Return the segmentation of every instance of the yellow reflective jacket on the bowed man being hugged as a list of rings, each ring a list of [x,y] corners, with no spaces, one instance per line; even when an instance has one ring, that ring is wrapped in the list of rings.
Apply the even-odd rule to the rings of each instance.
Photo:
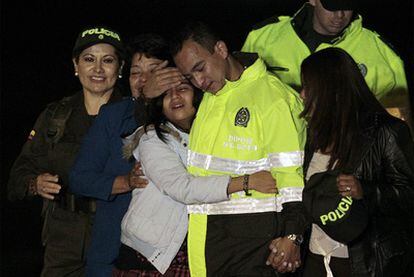
[[[188,171],[196,176],[239,176],[270,170],[279,194],[250,191],[215,204],[190,205],[191,276],[205,276],[204,245],[209,214],[281,211],[301,201],[305,123],[298,94],[266,71],[261,59],[215,95],[205,93],[190,133]]]

